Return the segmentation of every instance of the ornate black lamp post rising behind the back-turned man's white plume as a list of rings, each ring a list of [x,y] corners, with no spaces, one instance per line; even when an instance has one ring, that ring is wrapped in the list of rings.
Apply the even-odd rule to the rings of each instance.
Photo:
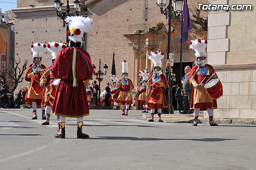
[[[74,1],[74,8],[76,10],[76,14],[73,14],[72,12],[70,12],[69,10],[69,4],[68,4],[68,0],[67,0],[67,5],[66,5],[66,12],[62,12],[62,5],[63,3],[60,2],[60,0],[54,0],[54,6],[56,8],[56,12],[57,12],[57,16],[60,17],[60,19],[65,20],[67,16],[79,16],[79,12],[81,9],[81,5],[79,0],[75,0]],[[68,26],[67,26],[67,31],[69,30]],[[68,42],[68,35],[66,35],[66,42]]]

